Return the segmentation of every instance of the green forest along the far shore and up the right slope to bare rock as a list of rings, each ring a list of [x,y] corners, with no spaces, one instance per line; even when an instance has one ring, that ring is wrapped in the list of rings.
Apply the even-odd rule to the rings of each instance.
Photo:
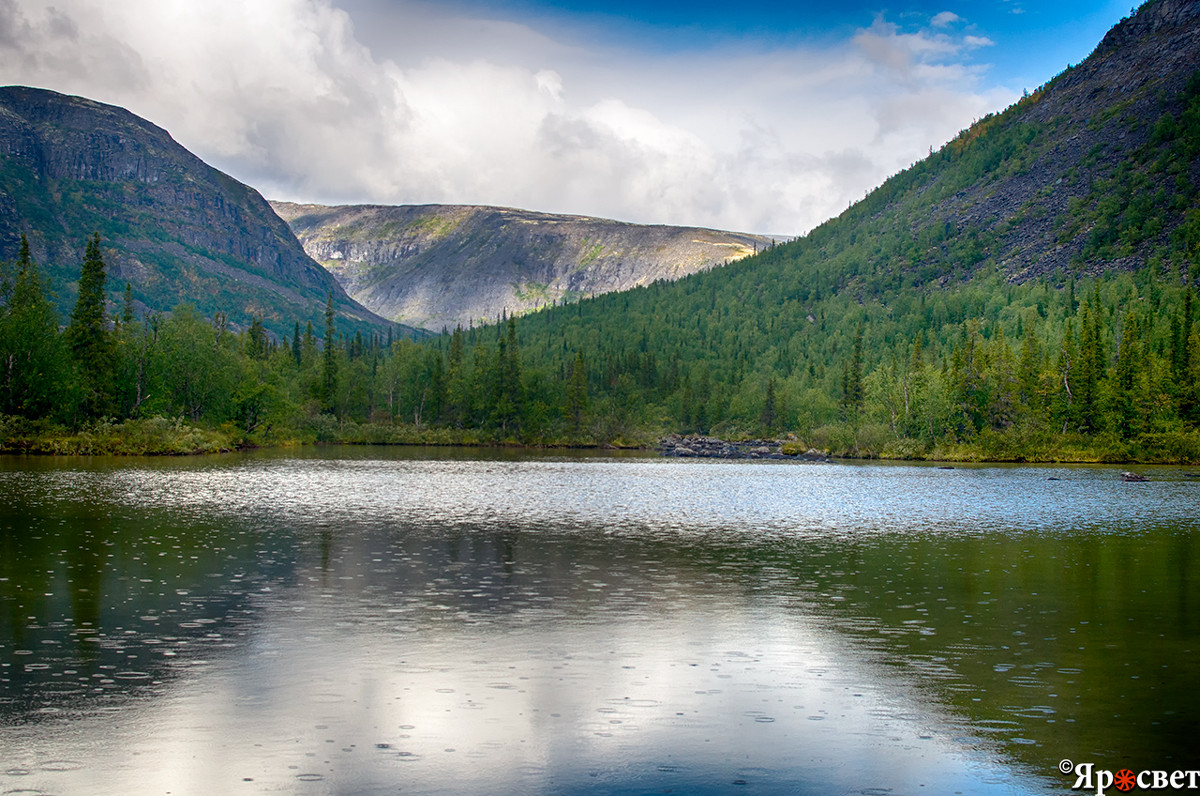
[[[332,297],[319,328],[286,335],[188,305],[139,315],[131,286],[121,298],[106,283],[98,234],[59,318],[23,245],[0,274],[0,445],[653,447],[703,433],[838,456],[1198,462],[1200,76],[1055,220],[1063,244],[1084,235],[1070,264],[1016,279],[998,241],[1036,205],[973,226],[930,208],[1061,140],[1058,122],[1027,121],[1042,94],[799,240],[421,341],[346,331]]]

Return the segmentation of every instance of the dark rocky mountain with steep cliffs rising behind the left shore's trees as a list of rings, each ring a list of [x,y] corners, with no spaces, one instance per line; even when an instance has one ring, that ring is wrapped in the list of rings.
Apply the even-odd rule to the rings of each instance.
[[[60,313],[74,303],[84,244],[101,235],[108,294],[132,286],[143,311],[193,304],[236,327],[323,328],[328,294],[348,328],[385,321],[317,265],[262,196],[128,110],[24,86],[0,88],[0,258],[20,234]]]

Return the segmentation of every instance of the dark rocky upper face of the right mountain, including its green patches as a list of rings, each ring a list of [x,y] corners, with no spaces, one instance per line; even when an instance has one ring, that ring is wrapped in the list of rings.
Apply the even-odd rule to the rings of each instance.
[[[1140,267],[1182,219],[1170,193],[1188,191],[1177,187],[1176,179],[1200,185],[1198,161],[1168,163],[1163,169],[1150,164],[1157,154],[1139,155],[1152,142],[1157,120],[1181,115],[1184,88],[1198,68],[1200,2],[1146,2],[1114,26],[1082,64],[1009,112],[966,131],[960,138],[964,158],[971,157],[976,139],[997,133],[1009,134],[1015,146],[996,150],[1000,162],[950,196],[940,187],[947,175],[960,172],[953,166],[943,169],[922,188],[928,203],[917,205],[911,228],[944,225],[982,233],[985,253],[1013,280],[1064,268]],[[954,150],[956,143],[947,149]],[[1165,187],[1168,198],[1154,198],[1148,211],[1158,232],[1144,228],[1128,234],[1134,225],[1126,214],[1138,194],[1159,187]],[[895,208],[893,203],[888,210]],[[1106,238],[1114,239],[1111,245]]]

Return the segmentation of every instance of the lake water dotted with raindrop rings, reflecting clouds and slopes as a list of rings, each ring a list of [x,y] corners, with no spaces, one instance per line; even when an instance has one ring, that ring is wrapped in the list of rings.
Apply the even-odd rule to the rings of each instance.
[[[1200,478],[0,459],[0,792],[1040,794],[1198,768]]]

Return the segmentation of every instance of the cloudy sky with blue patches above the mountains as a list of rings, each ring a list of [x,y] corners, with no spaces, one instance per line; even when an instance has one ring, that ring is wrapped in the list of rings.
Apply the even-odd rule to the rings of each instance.
[[[1078,64],[1127,0],[0,0],[0,83],[272,199],[798,235]]]

